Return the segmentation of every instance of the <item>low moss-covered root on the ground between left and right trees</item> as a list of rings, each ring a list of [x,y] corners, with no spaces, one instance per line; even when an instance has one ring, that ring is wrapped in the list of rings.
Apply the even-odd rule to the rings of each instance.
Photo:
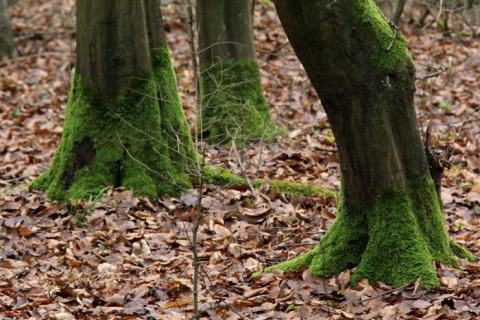
[[[241,178],[230,171],[227,171],[222,168],[215,168],[211,166],[205,167],[205,181],[207,183],[216,184],[220,186],[228,185],[239,185],[246,184],[247,181],[244,178]],[[251,181],[253,187],[260,188],[263,183],[263,179],[255,179]],[[287,195],[303,195],[303,196],[313,196],[321,195],[324,198],[336,196],[336,192],[323,188],[321,186],[312,186],[303,183],[297,182],[285,182],[279,180],[270,181],[270,190],[275,190],[278,192],[283,192]]]

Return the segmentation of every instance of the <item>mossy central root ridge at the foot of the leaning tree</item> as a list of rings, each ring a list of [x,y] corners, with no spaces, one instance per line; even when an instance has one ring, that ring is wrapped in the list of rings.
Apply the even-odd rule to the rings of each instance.
[[[429,202],[437,202],[436,197]],[[439,284],[432,253],[412,209],[404,191],[387,190],[367,211],[369,241],[352,275],[353,284],[367,278],[401,286],[415,282],[420,276],[426,287]]]

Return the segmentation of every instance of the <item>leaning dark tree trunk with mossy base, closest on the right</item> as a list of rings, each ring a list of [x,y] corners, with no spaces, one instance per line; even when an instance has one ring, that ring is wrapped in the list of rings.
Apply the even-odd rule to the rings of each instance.
[[[372,0],[276,0],[282,25],[327,112],[341,165],[337,218],[317,247],[271,269],[439,284],[433,261],[474,256],[451,242],[413,105],[406,40]]]

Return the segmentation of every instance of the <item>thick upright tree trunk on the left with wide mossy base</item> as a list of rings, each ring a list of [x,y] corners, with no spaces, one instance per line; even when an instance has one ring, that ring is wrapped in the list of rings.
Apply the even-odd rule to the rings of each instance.
[[[172,195],[191,187],[195,156],[160,1],[78,0],[62,141],[33,188],[54,199],[88,197],[105,186]]]

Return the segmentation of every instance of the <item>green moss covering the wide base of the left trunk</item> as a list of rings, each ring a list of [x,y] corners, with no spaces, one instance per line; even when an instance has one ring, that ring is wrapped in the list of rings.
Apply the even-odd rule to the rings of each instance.
[[[150,198],[190,188],[195,151],[172,72],[168,49],[156,50],[152,70],[113,100],[75,75],[62,141],[50,168],[31,186],[61,200],[87,198],[106,185]],[[93,156],[78,157],[82,148]]]

